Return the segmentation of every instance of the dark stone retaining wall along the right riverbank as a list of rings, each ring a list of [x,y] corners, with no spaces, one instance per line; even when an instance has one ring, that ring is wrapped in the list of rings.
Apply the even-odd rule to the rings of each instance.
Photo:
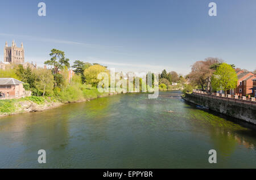
[[[185,94],[184,99],[193,104],[208,106],[210,110],[242,119],[256,125],[256,106],[251,104],[242,104],[240,102],[221,100],[208,96],[200,96],[195,93]]]

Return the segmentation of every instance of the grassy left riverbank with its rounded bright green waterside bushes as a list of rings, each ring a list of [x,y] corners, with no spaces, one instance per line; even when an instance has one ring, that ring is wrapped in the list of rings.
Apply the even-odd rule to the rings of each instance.
[[[30,96],[12,100],[0,100],[0,117],[26,112],[36,112],[70,103],[92,100],[108,96],[108,93],[98,92],[96,87],[69,87],[56,96]]]

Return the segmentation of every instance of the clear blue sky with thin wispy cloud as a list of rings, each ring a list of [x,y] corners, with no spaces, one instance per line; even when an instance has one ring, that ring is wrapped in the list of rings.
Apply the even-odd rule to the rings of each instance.
[[[39,2],[46,3],[44,17]],[[217,16],[208,15],[210,2]],[[207,57],[253,71],[255,8],[254,0],[3,1],[0,44],[23,41],[25,61],[39,66],[56,48],[71,64],[97,62],[125,72],[166,68],[185,75]]]

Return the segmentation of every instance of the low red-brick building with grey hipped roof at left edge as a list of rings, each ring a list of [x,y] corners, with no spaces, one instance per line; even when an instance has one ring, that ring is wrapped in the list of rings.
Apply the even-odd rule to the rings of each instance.
[[[0,78],[0,93],[5,97],[20,97],[25,95],[23,82],[14,78]]]

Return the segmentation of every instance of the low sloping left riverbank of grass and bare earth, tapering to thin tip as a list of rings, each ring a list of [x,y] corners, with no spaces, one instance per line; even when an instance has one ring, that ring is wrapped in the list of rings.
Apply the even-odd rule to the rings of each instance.
[[[100,93],[97,88],[86,89],[85,93],[80,96],[69,97],[68,100],[63,97],[44,97],[30,96],[19,99],[0,100],[0,117],[20,113],[40,112],[47,109],[57,108],[58,106],[85,102],[98,97],[106,97],[117,93]]]

